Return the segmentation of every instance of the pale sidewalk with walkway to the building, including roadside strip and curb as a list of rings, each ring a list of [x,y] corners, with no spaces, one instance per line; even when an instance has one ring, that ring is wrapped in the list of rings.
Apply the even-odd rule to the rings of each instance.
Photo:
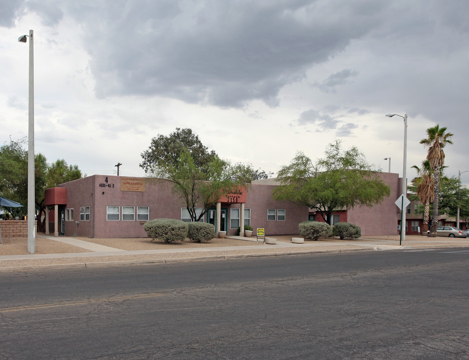
[[[23,271],[33,269],[95,267],[119,264],[142,264],[174,261],[200,261],[210,259],[227,259],[252,256],[279,256],[288,254],[305,254],[320,252],[343,252],[364,250],[399,250],[410,249],[415,245],[398,245],[394,240],[360,239],[340,242],[291,243],[277,241],[276,244],[251,244],[255,238],[229,236],[246,241],[240,246],[214,246],[201,248],[155,249],[155,250],[122,250],[115,247],[100,245],[91,241],[84,241],[72,237],[44,236],[50,240],[64,242],[78,246],[89,252],[3,255],[0,256],[0,271]],[[418,247],[441,247],[441,240],[412,241]],[[444,246],[467,246],[467,240],[452,240]]]

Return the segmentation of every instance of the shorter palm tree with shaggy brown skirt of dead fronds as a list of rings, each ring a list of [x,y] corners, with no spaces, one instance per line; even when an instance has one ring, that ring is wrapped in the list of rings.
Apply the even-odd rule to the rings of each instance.
[[[434,197],[434,179],[433,170],[431,169],[430,162],[423,160],[421,167],[413,165],[417,170],[417,177],[414,177],[412,182],[416,186],[417,196],[423,204],[423,229],[422,235],[428,231],[428,217],[430,213],[430,202]]]

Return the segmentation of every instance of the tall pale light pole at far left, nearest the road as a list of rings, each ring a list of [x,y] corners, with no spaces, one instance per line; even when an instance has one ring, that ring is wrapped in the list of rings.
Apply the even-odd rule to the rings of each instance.
[[[35,196],[34,196],[34,54],[32,30],[29,35],[18,37],[26,42],[29,37],[29,89],[28,89],[28,132],[27,132],[27,252],[36,252]]]

